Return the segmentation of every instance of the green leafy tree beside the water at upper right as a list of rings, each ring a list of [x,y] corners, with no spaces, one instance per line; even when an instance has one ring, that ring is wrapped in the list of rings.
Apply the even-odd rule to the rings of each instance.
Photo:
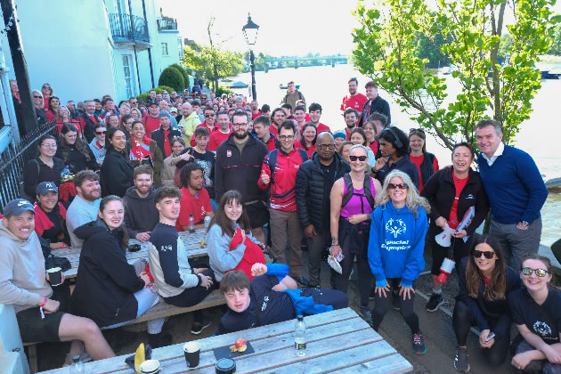
[[[507,25],[513,44],[510,65],[500,66],[498,54],[507,4],[515,23]],[[372,77],[411,118],[451,148],[459,134],[474,142],[476,123],[486,117],[500,121],[505,142],[532,112],[531,101],[541,86],[534,63],[546,53],[559,22],[550,10],[555,0],[437,0],[429,9],[422,0],[386,0],[380,9],[361,2],[354,12],[354,64]],[[416,55],[418,33],[433,45],[442,33],[448,44],[438,50],[458,69],[452,77],[461,93],[444,103],[446,79],[425,69],[428,60]]]

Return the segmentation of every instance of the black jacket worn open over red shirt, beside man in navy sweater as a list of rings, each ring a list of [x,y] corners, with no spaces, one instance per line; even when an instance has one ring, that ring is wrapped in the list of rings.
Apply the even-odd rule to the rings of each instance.
[[[469,169],[469,179],[466,186],[459,194],[458,220],[461,221],[469,207],[476,207],[476,215],[471,224],[465,228],[467,235],[473,234],[477,227],[484,221],[489,211],[489,199],[485,193],[479,173]],[[421,196],[427,198],[430,204],[430,228],[435,229],[435,220],[443,216],[448,221],[454,199],[456,199],[456,186],[452,179],[452,167],[444,167],[428,178],[427,184],[423,186]]]

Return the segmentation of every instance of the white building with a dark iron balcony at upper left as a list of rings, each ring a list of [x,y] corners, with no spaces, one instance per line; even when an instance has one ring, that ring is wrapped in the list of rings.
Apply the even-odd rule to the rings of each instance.
[[[176,20],[158,0],[16,4],[30,85],[48,82],[61,103],[128,99],[158,86],[161,71],[183,57]]]

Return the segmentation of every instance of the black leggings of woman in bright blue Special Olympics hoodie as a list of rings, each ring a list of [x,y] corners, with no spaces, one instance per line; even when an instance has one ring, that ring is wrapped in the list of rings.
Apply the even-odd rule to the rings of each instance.
[[[378,292],[376,293],[376,305],[374,306],[374,309],[372,309],[372,328],[376,331],[378,331],[380,323],[382,323],[384,316],[392,305],[392,291],[395,290],[397,294],[401,289],[401,287],[399,287],[401,280],[401,278],[387,279],[387,282],[390,285],[390,292],[386,292],[386,297],[384,297],[384,295],[379,297]],[[413,282],[413,288],[414,287],[415,282]],[[410,294],[411,298],[406,298],[405,300],[403,300],[403,297],[399,297],[399,312],[402,313],[403,320],[405,320],[405,322],[409,325],[411,333],[415,334],[419,332],[419,317],[415,314],[415,312],[413,312],[415,294],[412,292]]]

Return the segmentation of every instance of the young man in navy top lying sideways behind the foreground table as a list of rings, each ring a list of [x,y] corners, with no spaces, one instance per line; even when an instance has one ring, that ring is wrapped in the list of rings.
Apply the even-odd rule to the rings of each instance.
[[[295,319],[298,314],[316,314],[348,306],[344,292],[335,289],[297,289],[287,274],[287,264],[254,264],[249,281],[245,272],[227,272],[220,292],[228,312],[220,320],[216,335]]]

